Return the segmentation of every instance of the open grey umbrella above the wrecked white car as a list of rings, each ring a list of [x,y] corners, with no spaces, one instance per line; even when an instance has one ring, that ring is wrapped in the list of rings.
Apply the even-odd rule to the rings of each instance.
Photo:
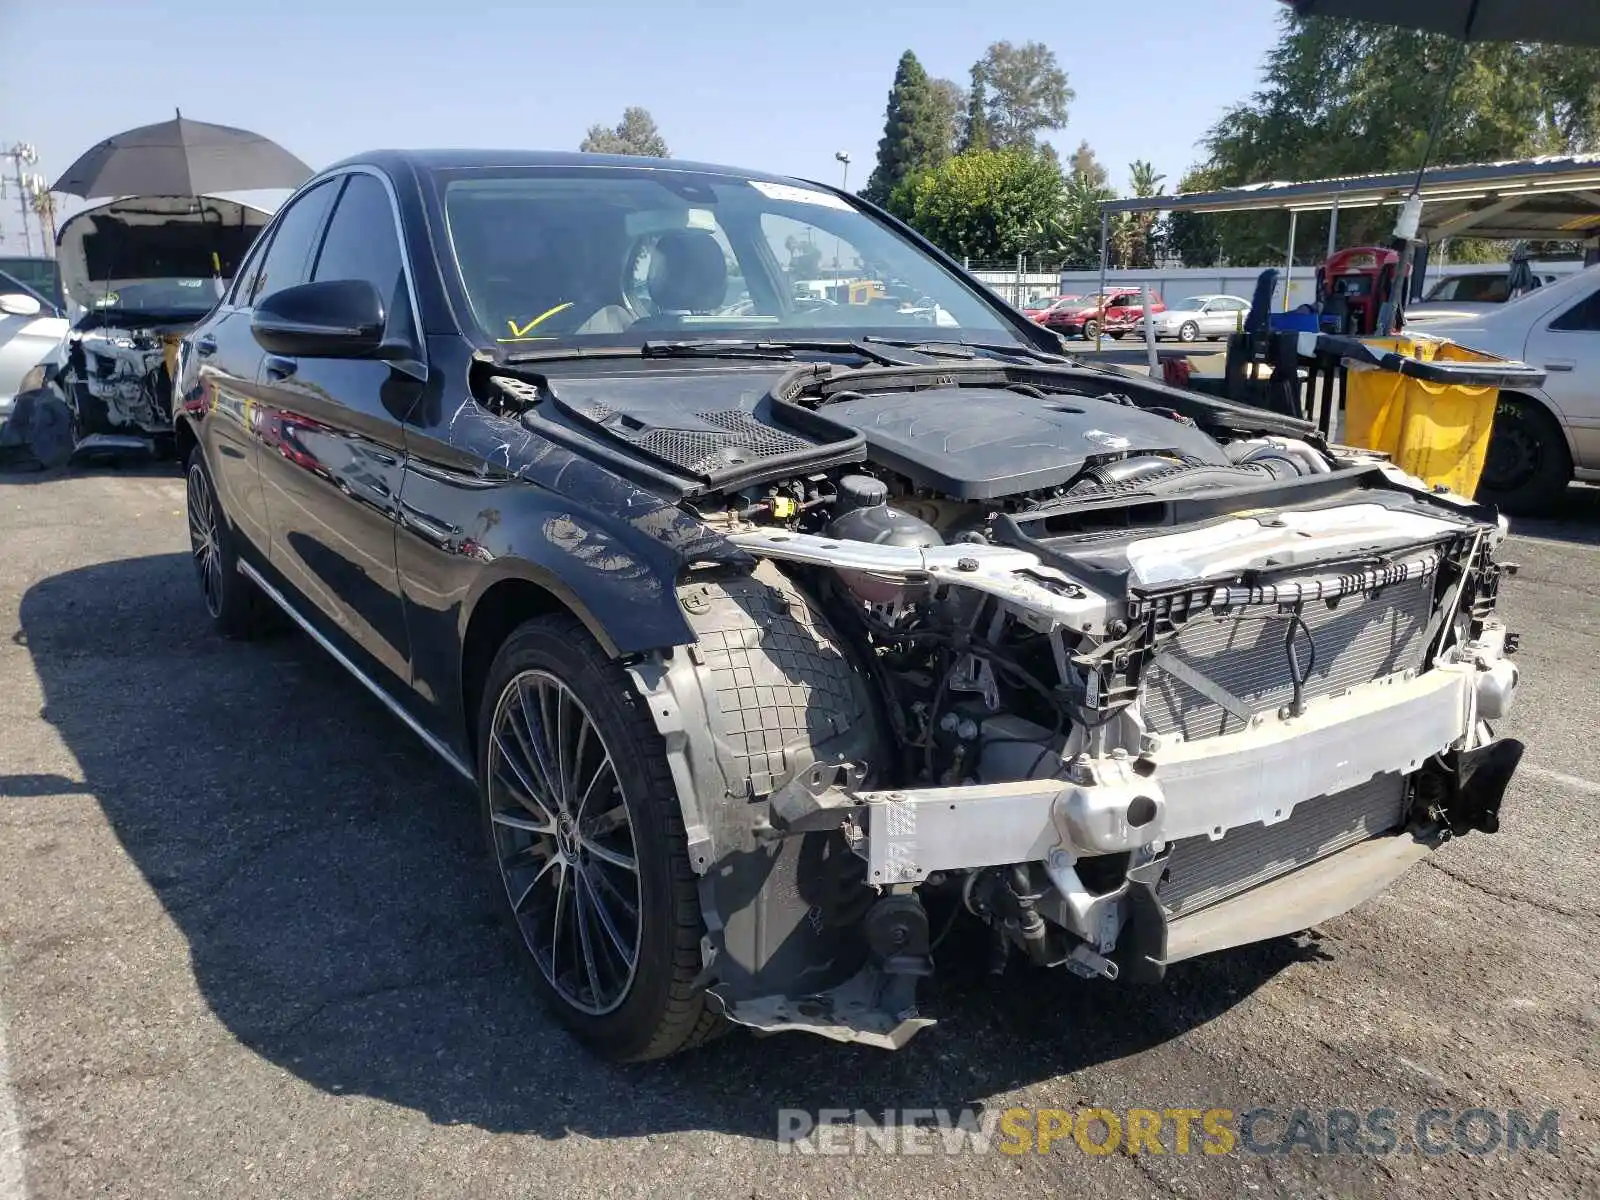
[[[50,190],[85,200],[101,195],[210,195],[299,187],[309,178],[306,163],[259,133],[192,122],[178,112],[170,122],[141,125],[96,144]]]

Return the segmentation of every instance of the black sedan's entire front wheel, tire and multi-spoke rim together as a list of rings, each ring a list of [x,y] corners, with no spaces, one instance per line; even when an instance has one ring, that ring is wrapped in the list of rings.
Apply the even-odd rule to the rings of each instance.
[[[611,1061],[718,1030],[666,747],[627,674],[570,614],[517,627],[478,715],[478,792],[504,917],[555,1018]]]

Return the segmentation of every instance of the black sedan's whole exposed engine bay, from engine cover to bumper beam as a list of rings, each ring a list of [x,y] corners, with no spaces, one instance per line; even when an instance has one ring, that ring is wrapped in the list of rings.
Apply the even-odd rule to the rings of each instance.
[[[1152,981],[1498,827],[1506,526],[1304,422],[992,360],[491,389],[742,554],[629,667],[738,1022],[899,1046],[955,922]]]

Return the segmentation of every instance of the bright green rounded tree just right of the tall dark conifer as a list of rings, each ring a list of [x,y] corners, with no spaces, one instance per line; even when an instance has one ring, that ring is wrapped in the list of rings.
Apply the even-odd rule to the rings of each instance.
[[[949,254],[1011,259],[1059,237],[1061,171],[1030,150],[971,150],[896,189],[891,211]]]

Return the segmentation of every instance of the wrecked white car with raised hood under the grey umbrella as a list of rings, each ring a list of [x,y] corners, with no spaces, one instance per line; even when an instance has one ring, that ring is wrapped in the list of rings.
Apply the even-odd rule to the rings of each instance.
[[[170,453],[178,341],[205,317],[269,213],[213,197],[128,197],[56,240],[66,338],[22,381],[0,446],[43,466]]]

